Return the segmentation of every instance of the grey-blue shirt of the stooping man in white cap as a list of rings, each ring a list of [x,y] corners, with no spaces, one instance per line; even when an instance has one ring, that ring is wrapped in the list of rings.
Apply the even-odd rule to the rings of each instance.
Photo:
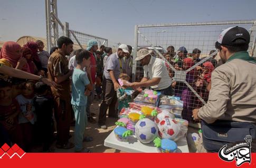
[[[122,62],[124,62],[124,60],[119,58],[117,53],[111,54],[108,57],[106,66],[104,68],[105,78],[111,80],[109,70],[112,70],[114,72],[115,78],[118,79],[122,68]]]

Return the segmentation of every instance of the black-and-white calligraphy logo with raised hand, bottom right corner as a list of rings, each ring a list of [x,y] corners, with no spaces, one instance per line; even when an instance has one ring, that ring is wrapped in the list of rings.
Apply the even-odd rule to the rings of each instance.
[[[219,157],[226,162],[235,160],[236,166],[240,166],[246,162],[251,164],[251,135],[246,135],[244,140],[246,143],[236,144],[229,149],[226,149],[227,145],[224,145],[219,151]]]

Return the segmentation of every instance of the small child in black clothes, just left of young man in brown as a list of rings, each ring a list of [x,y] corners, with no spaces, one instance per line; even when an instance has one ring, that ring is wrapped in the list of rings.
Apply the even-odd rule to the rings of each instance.
[[[37,116],[37,133],[43,143],[43,152],[53,152],[50,149],[53,138],[53,99],[49,96],[48,85],[43,82],[35,83],[37,96],[33,100],[35,113]]]

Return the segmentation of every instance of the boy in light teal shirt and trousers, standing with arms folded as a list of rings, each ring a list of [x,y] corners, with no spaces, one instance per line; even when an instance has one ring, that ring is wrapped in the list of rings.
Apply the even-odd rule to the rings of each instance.
[[[74,110],[75,116],[75,131],[74,131],[74,143],[75,152],[90,152],[90,150],[83,148],[84,141],[92,141],[92,137],[83,137],[84,130],[87,124],[87,96],[93,89],[92,83],[90,83],[87,73],[83,71],[84,67],[87,68],[88,75],[90,75],[90,53],[87,50],[80,51],[75,55],[77,61],[77,67],[73,71],[72,75],[72,99],[71,104]],[[85,87],[87,88],[85,90]]]

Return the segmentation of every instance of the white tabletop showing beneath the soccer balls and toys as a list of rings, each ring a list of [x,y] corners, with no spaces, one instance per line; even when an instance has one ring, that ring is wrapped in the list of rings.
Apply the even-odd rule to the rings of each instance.
[[[116,139],[114,131],[112,131],[104,141],[104,145],[113,149],[118,149],[125,152],[145,152],[145,153],[156,153],[157,148],[154,143],[143,144],[139,142],[135,137],[129,137],[128,142],[120,142]],[[189,153],[187,146],[186,137],[181,138],[177,142],[178,153]]]

